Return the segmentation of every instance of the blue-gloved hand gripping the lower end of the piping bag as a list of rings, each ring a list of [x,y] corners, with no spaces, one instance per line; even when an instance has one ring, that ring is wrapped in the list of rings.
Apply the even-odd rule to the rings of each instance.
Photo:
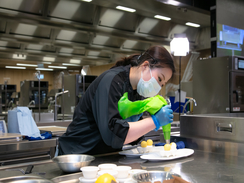
[[[173,110],[170,105],[162,107],[158,112],[152,115],[153,122],[156,126],[155,130],[158,130],[160,126],[165,126],[173,122]]]

